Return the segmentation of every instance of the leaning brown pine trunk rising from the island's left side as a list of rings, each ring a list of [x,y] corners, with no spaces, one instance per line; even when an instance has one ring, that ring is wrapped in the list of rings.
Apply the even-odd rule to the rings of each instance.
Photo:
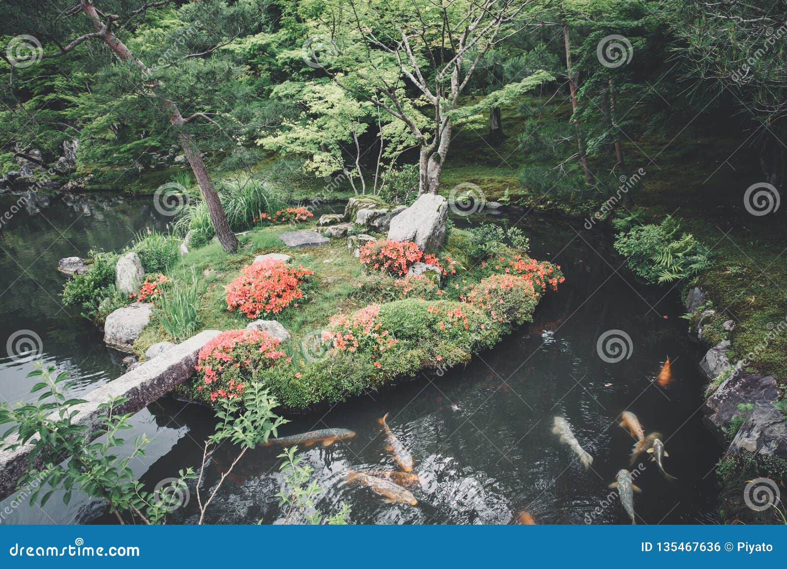
[[[98,12],[92,0],[81,0],[81,2],[82,10],[87,15],[87,18],[91,20],[93,28],[98,32],[98,35],[101,36],[105,44],[115,52],[117,57],[120,57],[123,61],[133,61],[142,69],[143,73],[150,76],[150,69],[131,53],[131,50],[127,48],[124,42],[121,42],[120,39],[113,34],[111,22],[104,23],[102,19],[98,17]],[[148,87],[153,89],[155,86],[149,83]],[[172,123],[172,126],[177,129],[180,145],[183,146],[183,153],[189,161],[191,171],[194,172],[194,177],[197,179],[202,197],[205,198],[205,203],[208,205],[210,219],[213,223],[213,228],[216,230],[219,242],[225,251],[228,253],[235,253],[235,251],[238,250],[238,238],[235,237],[235,234],[230,229],[230,224],[227,222],[227,215],[224,213],[224,208],[221,207],[219,196],[216,194],[216,191],[213,190],[213,183],[208,168],[205,167],[205,162],[202,160],[202,154],[194,143],[194,139],[192,139],[191,135],[183,128],[186,124],[186,120],[181,116],[175,102],[164,100],[164,107],[169,116],[169,121]]]

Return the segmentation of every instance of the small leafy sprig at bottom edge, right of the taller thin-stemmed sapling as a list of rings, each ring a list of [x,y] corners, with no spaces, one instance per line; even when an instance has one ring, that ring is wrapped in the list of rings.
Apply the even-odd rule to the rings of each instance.
[[[305,523],[338,526],[346,525],[350,514],[349,505],[342,502],[339,512],[327,519],[323,519],[320,512],[314,507],[314,498],[323,492],[312,478],[314,468],[309,464],[302,464],[303,456],[295,456],[297,446],[284,449],[278,458],[283,459],[279,471],[284,475],[284,485],[281,492],[276,494],[279,498],[279,508],[285,508],[283,523]]]

